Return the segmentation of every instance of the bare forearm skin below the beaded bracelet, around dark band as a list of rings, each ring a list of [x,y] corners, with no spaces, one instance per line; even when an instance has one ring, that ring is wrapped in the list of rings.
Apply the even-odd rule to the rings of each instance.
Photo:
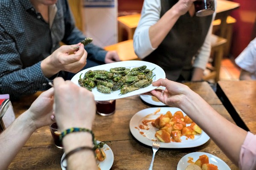
[[[93,147],[92,135],[87,132],[70,133],[63,139],[65,153],[81,146]],[[86,161],[85,161],[86,160]],[[72,154],[68,160],[69,170],[96,170],[96,159],[92,150],[81,150]]]

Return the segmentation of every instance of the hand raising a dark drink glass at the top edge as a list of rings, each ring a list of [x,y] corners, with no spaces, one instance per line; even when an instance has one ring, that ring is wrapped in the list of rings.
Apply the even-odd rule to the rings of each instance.
[[[186,14],[187,11],[189,11],[190,8],[194,8],[193,2],[196,0],[179,0],[172,8],[175,8],[177,11],[177,14],[183,15]]]

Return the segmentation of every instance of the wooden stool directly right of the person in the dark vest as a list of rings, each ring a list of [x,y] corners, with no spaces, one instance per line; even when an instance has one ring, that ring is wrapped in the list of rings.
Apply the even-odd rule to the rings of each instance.
[[[214,79],[215,82],[219,81],[221,60],[223,58],[224,46],[226,45],[226,43],[227,39],[212,34],[212,61],[210,61],[207,65],[207,70],[209,71],[209,73],[207,75],[204,75],[204,80]]]

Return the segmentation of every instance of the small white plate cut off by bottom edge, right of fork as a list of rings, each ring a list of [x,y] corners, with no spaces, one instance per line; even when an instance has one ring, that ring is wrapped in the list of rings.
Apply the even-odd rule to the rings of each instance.
[[[177,165],[177,170],[186,169],[186,167],[189,165],[188,163],[189,157],[192,157],[193,161],[195,162],[196,160],[198,160],[199,156],[201,155],[207,155],[209,158],[209,163],[218,166],[219,170],[230,170],[230,167],[224,161],[219,159],[217,156],[214,156],[209,153],[204,153],[204,152],[193,152],[183,156]]]

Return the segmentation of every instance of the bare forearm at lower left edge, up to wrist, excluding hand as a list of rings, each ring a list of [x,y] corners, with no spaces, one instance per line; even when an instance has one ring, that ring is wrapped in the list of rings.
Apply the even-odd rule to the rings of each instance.
[[[0,169],[7,169],[19,150],[23,147],[35,126],[27,119],[28,111],[21,114],[3,133],[0,134]]]

